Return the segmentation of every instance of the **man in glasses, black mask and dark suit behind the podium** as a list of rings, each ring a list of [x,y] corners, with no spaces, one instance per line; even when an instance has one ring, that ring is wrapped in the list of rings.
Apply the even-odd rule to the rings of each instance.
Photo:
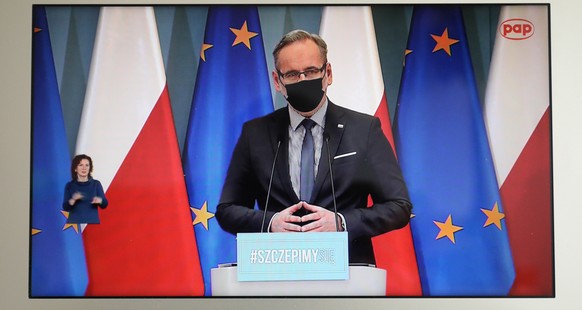
[[[346,230],[350,263],[375,264],[371,238],[406,226],[412,209],[380,120],[327,97],[332,64],[318,35],[291,31],[273,57],[288,105],[243,125],[218,223],[233,234]]]

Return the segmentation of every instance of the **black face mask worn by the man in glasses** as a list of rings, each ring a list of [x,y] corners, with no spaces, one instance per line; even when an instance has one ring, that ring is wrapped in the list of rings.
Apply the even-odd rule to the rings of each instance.
[[[325,95],[321,85],[323,77],[314,80],[303,80],[285,85],[287,101],[299,112],[313,111]]]

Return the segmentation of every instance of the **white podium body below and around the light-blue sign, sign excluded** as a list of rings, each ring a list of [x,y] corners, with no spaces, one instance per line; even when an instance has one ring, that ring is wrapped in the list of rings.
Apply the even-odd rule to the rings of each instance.
[[[237,267],[211,269],[212,296],[385,296],[386,270],[349,266],[348,280],[239,282]]]

